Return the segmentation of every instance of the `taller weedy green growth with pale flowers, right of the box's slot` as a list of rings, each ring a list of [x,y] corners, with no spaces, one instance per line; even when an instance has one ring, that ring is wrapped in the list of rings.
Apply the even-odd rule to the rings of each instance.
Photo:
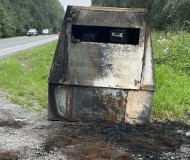
[[[190,33],[154,32],[153,49],[157,66],[168,65],[176,72],[190,75]]]

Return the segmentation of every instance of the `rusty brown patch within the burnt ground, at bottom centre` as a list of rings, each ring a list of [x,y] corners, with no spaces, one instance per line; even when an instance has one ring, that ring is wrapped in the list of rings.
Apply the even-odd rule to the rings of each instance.
[[[134,160],[131,153],[119,150],[116,145],[106,141],[88,142],[72,146],[64,151],[68,159],[80,160]]]

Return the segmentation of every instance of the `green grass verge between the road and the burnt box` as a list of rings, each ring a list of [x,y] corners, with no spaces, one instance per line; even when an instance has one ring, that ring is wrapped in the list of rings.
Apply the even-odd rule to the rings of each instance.
[[[0,62],[0,88],[31,110],[47,107],[47,80],[57,41]],[[40,106],[39,106],[39,105]]]

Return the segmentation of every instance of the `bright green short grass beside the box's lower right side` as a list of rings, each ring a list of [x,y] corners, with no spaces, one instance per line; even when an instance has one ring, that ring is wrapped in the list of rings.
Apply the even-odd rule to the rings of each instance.
[[[162,65],[156,67],[156,82],[153,119],[185,120],[184,111],[190,110],[190,76]]]

